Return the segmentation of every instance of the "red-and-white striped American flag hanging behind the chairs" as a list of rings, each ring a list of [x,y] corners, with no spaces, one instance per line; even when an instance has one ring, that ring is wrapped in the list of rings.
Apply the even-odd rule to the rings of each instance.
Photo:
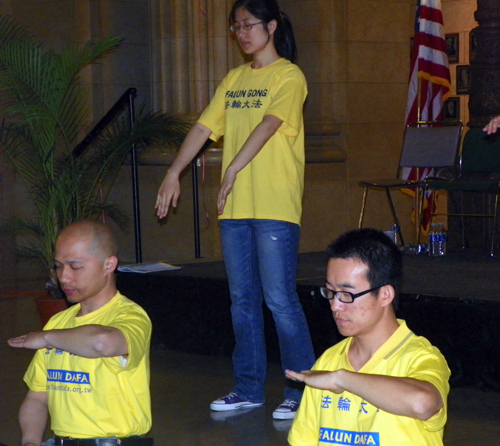
[[[450,96],[450,88],[441,0],[419,0],[415,16],[406,124],[417,120],[441,120],[443,102]],[[432,174],[430,169],[406,169],[403,178],[421,180]],[[426,197],[425,201],[422,219],[424,232],[430,221],[430,209],[434,207],[431,196]]]

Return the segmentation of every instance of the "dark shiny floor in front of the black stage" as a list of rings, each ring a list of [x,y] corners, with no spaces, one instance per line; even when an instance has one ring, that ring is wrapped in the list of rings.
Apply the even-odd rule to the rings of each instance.
[[[26,388],[23,372],[32,352],[11,349],[6,340],[39,329],[30,298],[0,300],[0,443],[19,444],[17,411]],[[151,355],[153,429],[157,446],[286,445],[290,422],[273,422],[282,399],[282,374],[270,364],[267,404],[249,411],[214,413],[213,399],[232,385],[229,358],[153,349]],[[500,394],[454,388],[449,399],[447,446],[500,445]],[[47,435],[50,432],[47,431]]]

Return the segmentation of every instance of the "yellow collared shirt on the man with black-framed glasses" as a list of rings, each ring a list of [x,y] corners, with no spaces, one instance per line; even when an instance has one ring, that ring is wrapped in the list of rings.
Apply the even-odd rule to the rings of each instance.
[[[436,347],[416,336],[406,322],[398,322],[396,332],[359,372],[430,382],[441,393],[444,407],[429,420],[420,421],[384,412],[349,392],[335,394],[306,386],[288,435],[292,446],[443,445],[450,370]],[[344,339],[328,349],[313,369],[354,371],[347,357],[351,340]]]

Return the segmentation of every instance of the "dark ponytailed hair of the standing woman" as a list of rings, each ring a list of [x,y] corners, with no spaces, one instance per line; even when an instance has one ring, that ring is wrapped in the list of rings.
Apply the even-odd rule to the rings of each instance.
[[[297,46],[293,35],[292,22],[288,16],[281,11],[276,0],[236,0],[229,14],[229,24],[235,21],[236,11],[245,8],[255,18],[266,24],[276,20],[278,26],[274,33],[274,46],[281,57],[291,62],[297,57]]]

